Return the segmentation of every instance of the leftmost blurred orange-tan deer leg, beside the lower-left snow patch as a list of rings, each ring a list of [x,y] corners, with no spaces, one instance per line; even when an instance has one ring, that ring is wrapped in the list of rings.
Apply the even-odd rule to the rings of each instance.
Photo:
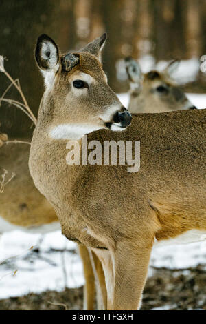
[[[94,309],[94,297],[95,297],[95,278],[93,274],[93,267],[91,265],[91,259],[87,247],[84,245],[78,245],[79,253],[83,263],[84,270],[84,310]]]

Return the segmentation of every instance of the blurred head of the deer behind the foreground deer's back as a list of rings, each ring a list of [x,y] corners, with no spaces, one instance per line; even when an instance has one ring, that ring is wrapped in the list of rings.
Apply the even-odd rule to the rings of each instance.
[[[171,61],[162,72],[151,70],[148,73],[142,73],[139,63],[131,57],[126,58],[125,63],[130,81],[128,110],[133,114],[196,109],[171,77],[179,61]]]

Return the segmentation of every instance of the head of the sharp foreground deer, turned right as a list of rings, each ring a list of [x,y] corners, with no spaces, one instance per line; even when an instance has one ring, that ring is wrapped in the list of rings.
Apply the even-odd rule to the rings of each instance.
[[[124,130],[130,124],[130,113],[102,70],[105,41],[103,34],[78,52],[60,54],[50,37],[38,38],[35,56],[45,79],[38,125],[52,138],[80,139],[94,130]]]

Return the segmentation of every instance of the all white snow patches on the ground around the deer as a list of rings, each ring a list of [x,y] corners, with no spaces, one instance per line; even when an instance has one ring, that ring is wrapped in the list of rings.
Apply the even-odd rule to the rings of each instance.
[[[188,94],[188,97],[196,107],[205,108],[206,94]],[[119,94],[119,99],[128,105],[128,94]],[[38,246],[38,251],[30,250],[32,246]],[[3,234],[0,299],[83,285],[82,263],[75,249],[76,245],[67,241],[60,231],[44,236],[20,231]],[[156,247],[152,251],[149,276],[152,266],[186,269],[198,263],[206,267],[206,242]],[[15,270],[18,271],[14,275]]]

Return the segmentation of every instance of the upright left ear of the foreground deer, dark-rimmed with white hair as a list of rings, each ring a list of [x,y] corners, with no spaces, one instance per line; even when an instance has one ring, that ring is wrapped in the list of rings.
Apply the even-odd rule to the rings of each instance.
[[[38,37],[35,57],[38,67],[46,72],[56,72],[60,66],[60,53],[58,46],[46,34]]]

